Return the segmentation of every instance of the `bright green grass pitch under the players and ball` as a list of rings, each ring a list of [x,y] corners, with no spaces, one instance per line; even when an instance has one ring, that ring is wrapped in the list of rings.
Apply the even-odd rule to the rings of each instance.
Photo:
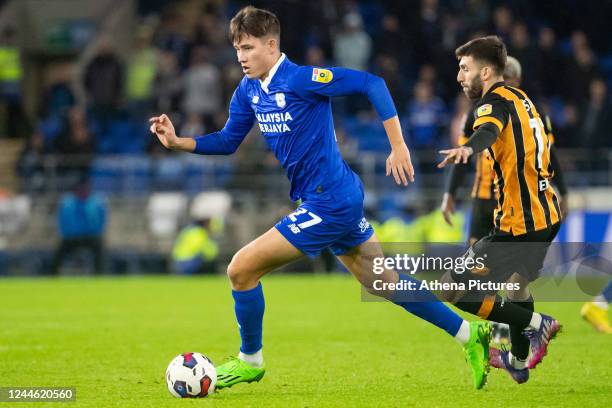
[[[72,407],[610,406],[612,336],[577,303],[542,303],[564,324],[527,384],[493,370],[472,389],[459,345],[394,305],[362,302],[350,277],[264,279],[260,383],[204,400],[173,398],[164,373],[177,354],[214,362],[239,345],[224,277],[0,280],[0,386],[74,386]],[[0,406],[58,407],[62,403]]]

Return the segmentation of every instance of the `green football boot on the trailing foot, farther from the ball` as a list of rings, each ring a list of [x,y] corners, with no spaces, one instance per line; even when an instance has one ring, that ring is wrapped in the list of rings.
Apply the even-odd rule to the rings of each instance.
[[[491,324],[489,322],[470,322],[470,340],[463,346],[465,359],[472,369],[474,387],[479,390],[487,383],[489,375],[489,342]]]

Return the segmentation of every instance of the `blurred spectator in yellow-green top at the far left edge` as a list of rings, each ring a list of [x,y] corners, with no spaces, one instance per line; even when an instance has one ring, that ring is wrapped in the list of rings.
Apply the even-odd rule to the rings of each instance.
[[[21,105],[23,70],[16,34],[10,26],[0,34],[0,138],[22,137],[27,132]]]

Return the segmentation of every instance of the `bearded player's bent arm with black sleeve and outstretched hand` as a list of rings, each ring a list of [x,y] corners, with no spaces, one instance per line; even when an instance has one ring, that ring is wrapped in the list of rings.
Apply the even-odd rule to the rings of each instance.
[[[475,110],[474,133],[468,141],[455,149],[440,150],[444,160],[438,164],[442,168],[447,164],[467,163],[469,157],[479,153],[495,143],[502,129],[508,123],[508,113],[502,101],[488,98],[483,100]]]

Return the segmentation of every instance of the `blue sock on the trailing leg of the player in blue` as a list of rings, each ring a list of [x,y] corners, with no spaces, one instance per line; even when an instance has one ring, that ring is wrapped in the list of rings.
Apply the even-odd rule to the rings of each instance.
[[[407,275],[399,274],[399,278],[400,282],[414,282],[416,288],[421,284],[417,279]],[[457,313],[453,312],[436,295],[426,289],[397,291],[393,303],[445,330],[453,337],[457,334],[463,322],[463,319]]]

